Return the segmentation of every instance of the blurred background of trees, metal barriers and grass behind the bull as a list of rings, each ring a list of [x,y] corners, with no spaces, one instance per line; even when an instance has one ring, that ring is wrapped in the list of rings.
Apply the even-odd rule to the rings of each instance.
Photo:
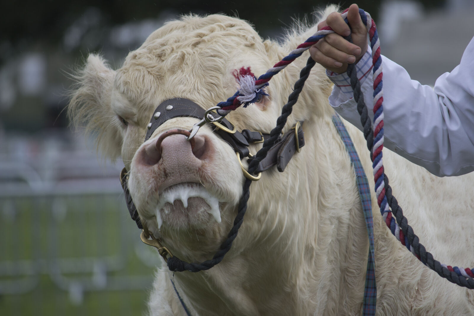
[[[93,139],[68,128],[67,73],[90,52],[119,68],[129,51],[180,14],[238,16],[262,37],[279,40],[293,19],[312,21],[311,13],[328,2],[3,1],[0,315],[146,314],[153,270],[162,262],[129,218],[121,161],[101,161]],[[473,36],[472,2],[357,3],[377,21],[383,54],[433,84],[456,66]]]

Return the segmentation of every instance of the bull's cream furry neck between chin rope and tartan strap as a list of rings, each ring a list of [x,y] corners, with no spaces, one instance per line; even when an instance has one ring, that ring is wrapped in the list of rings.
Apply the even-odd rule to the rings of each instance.
[[[209,271],[176,275],[189,297],[207,292],[216,310],[235,315],[291,315],[306,298],[314,298],[306,314],[342,315],[362,302],[368,238],[354,172],[330,118],[314,124],[285,172],[251,186],[230,255]]]

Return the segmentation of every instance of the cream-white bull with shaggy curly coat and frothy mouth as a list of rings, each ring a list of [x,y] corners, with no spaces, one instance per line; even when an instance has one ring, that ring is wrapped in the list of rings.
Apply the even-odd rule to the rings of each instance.
[[[193,148],[183,135],[166,137],[156,148],[164,131],[189,130],[195,118],[169,120],[143,143],[154,109],[176,97],[210,108],[239,88],[234,69],[250,66],[263,74],[315,31],[301,27],[277,44],[237,18],[186,16],[153,32],[120,69],[91,54],[77,73],[70,117],[98,132],[98,148],[107,157],[122,156],[142,222],[182,260],[212,258],[232,226],[245,178],[232,148],[209,126],[198,132]],[[228,115],[238,130],[271,131],[308,56],[273,77],[268,97]],[[284,172],[272,168],[252,184],[243,225],[221,263],[198,273],[172,273],[163,264],[151,315],[185,315],[171,280],[192,315],[362,313],[369,243],[355,173],[331,121],[331,88],[316,65],[283,130],[304,121],[306,145]],[[373,182],[363,135],[346,127]],[[473,175],[437,178],[388,151],[384,164],[428,251],[440,262],[472,267]],[[391,235],[374,194],[372,200],[377,314],[472,315],[473,290],[423,266]]]

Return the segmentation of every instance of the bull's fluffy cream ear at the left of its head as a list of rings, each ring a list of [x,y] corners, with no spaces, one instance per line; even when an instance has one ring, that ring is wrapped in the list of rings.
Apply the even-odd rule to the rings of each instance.
[[[71,125],[85,128],[96,136],[98,149],[108,158],[116,158],[121,147],[110,104],[115,71],[105,60],[90,54],[82,69],[74,72],[75,81],[70,90],[68,117]]]

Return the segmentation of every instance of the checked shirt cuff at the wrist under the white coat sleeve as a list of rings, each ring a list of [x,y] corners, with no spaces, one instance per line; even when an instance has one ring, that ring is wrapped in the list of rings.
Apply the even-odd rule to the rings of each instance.
[[[357,78],[359,78],[361,85],[373,67],[372,50],[368,47],[367,52],[365,52],[364,56],[362,56],[361,60],[356,64]],[[326,70],[326,75],[334,83],[334,86],[338,87],[347,96],[347,99],[352,98],[354,91],[351,88],[351,81],[349,76],[347,76],[347,72],[337,73]]]

